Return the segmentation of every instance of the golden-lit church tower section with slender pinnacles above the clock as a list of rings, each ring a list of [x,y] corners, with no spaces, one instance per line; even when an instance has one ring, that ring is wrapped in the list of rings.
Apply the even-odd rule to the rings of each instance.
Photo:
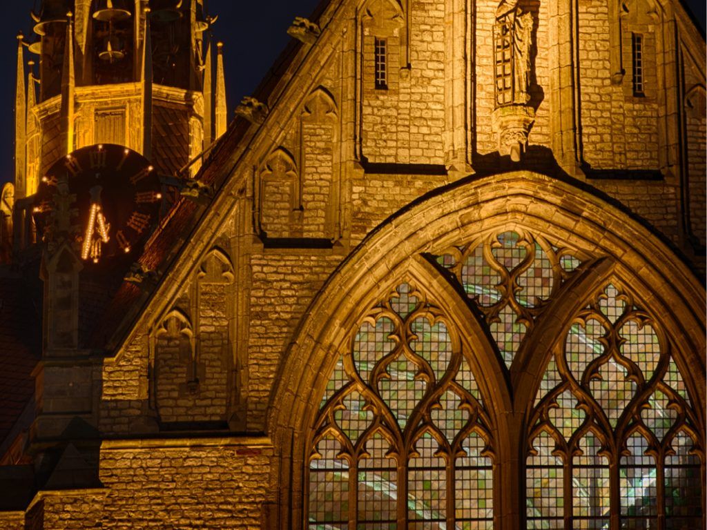
[[[17,64],[13,192],[24,224],[35,206],[23,199],[86,146],[124,146],[159,175],[195,174],[226,129],[223,69],[212,66],[222,47],[203,0],[43,0],[31,16]]]

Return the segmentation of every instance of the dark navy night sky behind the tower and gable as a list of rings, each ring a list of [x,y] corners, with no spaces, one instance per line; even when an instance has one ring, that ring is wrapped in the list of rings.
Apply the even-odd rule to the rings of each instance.
[[[309,16],[320,0],[206,0],[209,13],[218,15],[216,38],[225,44],[226,86],[229,112],[244,95],[250,95],[286,46],[287,28],[295,16]],[[705,27],[705,0],[686,0]],[[35,6],[36,4],[36,6]],[[5,0],[0,18],[0,101],[6,119],[0,125],[0,181],[13,179],[13,106],[15,93],[16,35],[32,35],[30,9],[40,0]],[[229,118],[232,116],[229,116]]]

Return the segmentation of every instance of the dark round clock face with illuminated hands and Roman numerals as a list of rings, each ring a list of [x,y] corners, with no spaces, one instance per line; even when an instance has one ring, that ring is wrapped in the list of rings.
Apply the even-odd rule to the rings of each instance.
[[[124,146],[88,146],[42,177],[34,218],[45,240],[74,237],[88,263],[140,249],[158,222],[162,192],[154,167]]]

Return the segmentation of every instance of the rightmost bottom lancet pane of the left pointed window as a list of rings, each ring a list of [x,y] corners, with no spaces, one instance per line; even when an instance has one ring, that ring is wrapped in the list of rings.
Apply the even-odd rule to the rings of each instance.
[[[493,469],[481,456],[486,442],[477,434],[464,440],[466,456],[457,458],[455,516],[457,529],[493,528]]]

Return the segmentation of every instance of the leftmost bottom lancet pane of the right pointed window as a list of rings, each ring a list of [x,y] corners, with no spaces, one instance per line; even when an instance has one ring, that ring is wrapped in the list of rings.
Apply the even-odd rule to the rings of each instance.
[[[527,458],[525,470],[528,528],[562,528],[562,461],[552,454],[555,442],[546,432],[535,438],[532,445],[537,454]]]

